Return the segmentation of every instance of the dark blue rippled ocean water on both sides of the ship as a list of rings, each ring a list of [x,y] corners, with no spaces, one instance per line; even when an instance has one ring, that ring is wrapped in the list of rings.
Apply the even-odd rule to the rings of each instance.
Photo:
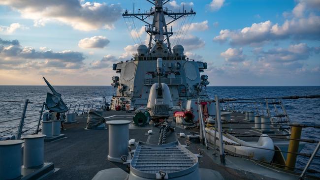
[[[62,98],[68,107],[71,104],[71,111],[74,110],[75,104],[81,104],[79,112],[82,112],[83,109],[86,111],[88,107],[100,107],[103,104],[102,96],[105,96],[106,101],[109,102],[114,92],[113,87],[110,86],[54,86],[54,88],[62,94]],[[214,98],[214,95],[217,94],[219,98],[237,99],[320,94],[320,87],[207,87],[206,90],[210,98]],[[0,86],[0,100],[25,101],[25,99],[29,99],[31,102],[42,103],[45,101],[47,92],[50,92],[50,90],[46,86]],[[292,122],[320,124],[319,98],[284,99],[282,102]],[[24,131],[36,126],[36,122],[33,121],[38,120],[39,111],[42,106],[36,103],[28,104],[26,116],[32,117],[26,118]],[[84,105],[85,108],[83,108]],[[253,105],[242,103],[228,103],[228,105],[235,106],[236,110],[255,110]],[[22,102],[0,102],[0,132],[18,126],[19,120],[12,119],[21,117],[23,106],[24,103]],[[270,105],[269,108],[273,111],[273,105]],[[75,111],[78,111],[78,107],[76,107]],[[6,120],[12,121],[1,123],[1,121]],[[32,132],[32,130],[34,130],[34,128],[26,133]],[[0,133],[0,136],[1,134],[15,134],[16,131],[17,129],[14,128],[5,133]],[[304,128],[302,138],[319,141],[320,129]],[[312,153],[316,145],[317,144],[307,144],[302,152]],[[320,155],[320,152],[318,152],[318,155]],[[303,168],[307,161],[308,158],[306,157],[298,157],[297,167]],[[314,159],[311,168],[320,171],[320,158]]]

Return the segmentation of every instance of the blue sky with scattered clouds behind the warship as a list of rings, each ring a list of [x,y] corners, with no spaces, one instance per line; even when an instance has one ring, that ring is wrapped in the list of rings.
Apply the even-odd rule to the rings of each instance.
[[[151,7],[146,0],[1,0],[0,85],[43,85],[42,76],[55,85],[109,85],[112,63],[130,59],[147,37],[143,23],[121,16],[133,3],[135,12]],[[182,11],[181,3],[165,6]],[[197,15],[173,30],[185,22],[179,43],[209,64],[210,86],[320,86],[319,0],[184,6]]]

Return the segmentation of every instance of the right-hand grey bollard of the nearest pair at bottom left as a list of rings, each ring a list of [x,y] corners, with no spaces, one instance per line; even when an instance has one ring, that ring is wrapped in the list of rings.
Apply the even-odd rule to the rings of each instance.
[[[23,150],[23,166],[24,168],[37,168],[43,165],[43,134],[34,134],[23,136],[25,146]]]

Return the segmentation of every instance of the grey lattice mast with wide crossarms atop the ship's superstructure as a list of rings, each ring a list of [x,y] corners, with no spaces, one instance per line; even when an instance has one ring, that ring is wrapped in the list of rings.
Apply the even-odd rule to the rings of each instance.
[[[128,13],[126,10],[122,16],[124,18],[137,18],[141,20],[142,22],[146,23],[147,25],[145,30],[150,35],[149,39],[149,47],[148,47],[148,53],[150,53],[151,50],[151,44],[152,40],[156,42],[156,44],[162,45],[164,41],[167,41],[167,48],[169,50],[169,53],[171,54],[171,44],[169,37],[173,35],[174,32],[172,32],[172,27],[168,29],[168,25],[170,25],[172,22],[178,20],[181,17],[184,16],[195,16],[195,12],[191,9],[190,12],[187,12],[184,10],[184,12],[172,12],[171,10],[168,10],[165,8],[163,10],[163,5],[169,2],[170,0],[147,0],[148,2],[152,3],[154,7],[152,7],[149,11],[146,13]],[[152,24],[148,23],[146,21],[147,18],[153,16],[153,22]],[[168,16],[172,18],[172,20],[169,23],[165,22],[165,16]]]

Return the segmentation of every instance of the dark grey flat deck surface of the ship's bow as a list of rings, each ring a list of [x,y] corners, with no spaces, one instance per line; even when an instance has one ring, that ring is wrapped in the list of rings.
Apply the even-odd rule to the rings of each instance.
[[[106,117],[106,120],[132,120],[133,113],[108,111],[105,112],[104,117]],[[45,142],[45,162],[53,162],[55,168],[60,169],[49,176],[48,180],[91,180],[98,171],[117,167],[107,160],[108,129],[84,130],[86,115],[77,116],[76,120],[78,123],[64,124],[62,133],[65,134],[66,138],[54,142]],[[141,128],[130,126],[129,139],[135,139],[136,142],[147,142],[149,135],[146,132],[150,129],[153,129],[154,132],[157,130],[156,127],[152,126]],[[180,143],[184,145],[186,138],[180,138],[175,134],[180,132],[185,132],[186,135],[190,134],[188,130],[176,126],[175,132],[168,134],[168,142],[172,142],[178,137]],[[156,137],[157,134],[154,133],[152,136]],[[200,143],[192,143],[189,148],[193,153],[197,153],[198,149],[204,149],[204,146]],[[221,173],[225,180],[270,179],[215,163],[211,151],[200,158],[200,168],[216,170]]]

